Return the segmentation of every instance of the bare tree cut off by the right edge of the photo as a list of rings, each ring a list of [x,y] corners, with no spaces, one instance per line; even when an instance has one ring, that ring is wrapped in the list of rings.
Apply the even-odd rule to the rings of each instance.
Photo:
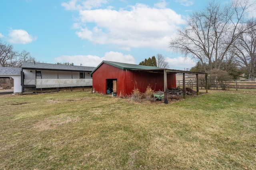
[[[236,55],[238,64],[245,66],[251,80],[255,80],[256,74],[256,20],[247,23],[247,31],[242,33],[232,51]]]

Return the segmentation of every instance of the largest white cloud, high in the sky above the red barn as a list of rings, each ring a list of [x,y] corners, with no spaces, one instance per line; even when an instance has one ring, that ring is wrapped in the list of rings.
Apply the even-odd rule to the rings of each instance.
[[[131,6],[131,10],[80,10],[80,22],[73,27],[86,24],[76,31],[81,39],[128,50],[139,47],[166,49],[170,36],[178,25],[184,24],[182,16],[173,10],[150,8],[144,4]]]

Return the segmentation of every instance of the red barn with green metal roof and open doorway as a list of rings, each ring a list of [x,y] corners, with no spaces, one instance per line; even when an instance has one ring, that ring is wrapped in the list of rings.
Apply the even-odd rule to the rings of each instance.
[[[92,87],[98,93],[130,95],[134,87],[145,92],[147,86],[164,90],[164,69],[155,66],[102,61],[92,72]],[[167,88],[176,87],[175,73],[167,74]]]

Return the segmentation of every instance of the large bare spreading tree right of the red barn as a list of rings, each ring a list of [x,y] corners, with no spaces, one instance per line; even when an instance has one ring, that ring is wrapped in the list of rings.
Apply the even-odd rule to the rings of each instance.
[[[171,39],[170,49],[208,64],[209,70],[220,69],[228,50],[246,30],[243,23],[249,6],[249,0],[232,1],[224,7],[211,2],[190,16],[187,27]]]

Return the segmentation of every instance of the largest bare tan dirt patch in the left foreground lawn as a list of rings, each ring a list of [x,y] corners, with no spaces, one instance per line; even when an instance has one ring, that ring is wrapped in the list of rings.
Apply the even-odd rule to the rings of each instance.
[[[78,122],[80,121],[79,117],[69,117],[68,115],[58,115],[58,117],[50,117],[43,119],[42,121],[38,121],[34,125],[34,129],[36,131],[45,131],[49,129],[55,129],[60,125],[64,125],[70,122]]]

